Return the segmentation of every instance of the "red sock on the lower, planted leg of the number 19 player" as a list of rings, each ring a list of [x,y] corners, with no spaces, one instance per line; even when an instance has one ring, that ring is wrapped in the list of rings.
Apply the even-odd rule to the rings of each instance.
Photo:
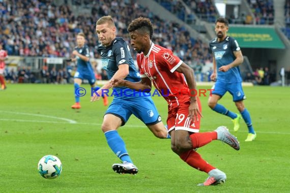
[[[186,162],[189,166],[202,172],[209,173],[211,170],[216,169],[207,163],[206,160],[202,159],[202,157],[194,150],[189,150],[182,153],[180,158],[184,160],[184,162]]]

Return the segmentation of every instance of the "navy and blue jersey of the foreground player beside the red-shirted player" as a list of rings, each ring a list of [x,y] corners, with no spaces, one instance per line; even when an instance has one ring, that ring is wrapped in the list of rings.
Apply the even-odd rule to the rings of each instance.
[[[129,75],[125,80],[131,82],[139,82],[141,80],[131,56],[129,46],[122,38],[115,38],[111,45],[107,47],[99,44],[98,52],[101,55],[102,68],[106,70],[109,79],[118,71],[119,65],[127,64],[129,65]],[[126,87],[115,87],[114,89],[120,93],[121,89],[124,90]],[[130,94],[130,91],[126,92],[126,94]]]

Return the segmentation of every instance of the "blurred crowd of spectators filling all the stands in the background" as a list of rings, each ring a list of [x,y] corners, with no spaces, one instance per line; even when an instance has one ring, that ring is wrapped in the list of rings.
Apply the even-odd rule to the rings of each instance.
[[[289,1],[286,0],[285,16],[289,15]],[[195,70],[197,81],[210,81],[212,73],[212,54],[208,42],[194,39],[184,26],[176,22],[160,19],[157,15],[143,8],[132,0],[89,1],[65,0],[65,3],[56,6],[52,0],[11,0],[0,1],[0,40],[8,55],[41,56],[41,57],[66,57],[70,58],[76,46],[76,34],[83,32],[90,47],[91,58],[99,58],[96,47],[98,37],[95,33],[95,22],[104,15],[112,15],[118,28],[118,37],[123,37],[130,45],[127,33],[128,24],[137,17],[149,17],[154,24],[153,41],[163,47],[171,49],[173,53],[184,60]],[[68,3],[69,2],[69,3]],[[194,14],[186,14],[186,4],[191,12],[198,17],[204,17],[209,22],[214,22],[218,17],[216,8],[210,0],[184,0],[183,4],[177,0],[156,0],[166,9],[171,9],[179,18],[194,20]],[[266,3],[265,3],[266,2]],[[266,20],[268,24],[274,15],[273,1],[248,0],[258,24]],[[86,5],[90,13],[73,12],[73,6]],[[169,6],[170,5],[170,6]],[[136,11],[138,10],[138,11]],[[286,11],[287,10],[287,11]],[[251,24],[252,18],[245,16],[244,23]],[[230,20],[230,18],[229,18]],[[133,58],[136,53],[131,49]],[[92,65],[97,66],[94,59]],[[37,79],[30,69],[22,67],[17,71],[7,72],[7,79],[14,82],[71,82],[75,70],[74,63],[71,69],[44,66],[39,69],[41,77]],[[107,79],[106,72],[96,69],[97,79]],[[15,71],[15,72],[14,72]],[[24,73],[25,72],[25,73]]]

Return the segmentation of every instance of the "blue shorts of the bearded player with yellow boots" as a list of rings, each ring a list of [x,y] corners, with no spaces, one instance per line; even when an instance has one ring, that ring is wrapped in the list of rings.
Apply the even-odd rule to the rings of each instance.
[[[241,82],[228,84],[217,81],[212,89],[214,89],[212,94],[220,95],[220,97],[222,97],[226,91],[228,91],[233,96],[234,102],[246,99]]]

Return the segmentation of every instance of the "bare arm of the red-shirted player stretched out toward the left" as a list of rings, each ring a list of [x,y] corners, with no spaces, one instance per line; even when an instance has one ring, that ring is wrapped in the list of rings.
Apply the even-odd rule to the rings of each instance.
[[[126,86],[128,88],[137,90],[137,91],[145,91],[150,92],[152,88],[151,80],[148,77],[141,78],[140,82],[130,82],[124,79],[112,79],[110,81],[111,86]]]

